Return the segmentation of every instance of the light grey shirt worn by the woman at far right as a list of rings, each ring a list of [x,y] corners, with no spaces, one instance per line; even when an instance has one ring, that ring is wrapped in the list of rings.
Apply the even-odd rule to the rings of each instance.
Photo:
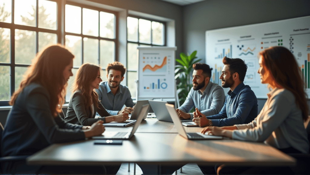
[[[264,141],[278,149],[293,147],[308,153],[307,131],[293,93],[275,88],[267,95],[263,109],[251,123],[235,125],[238,130],[233,130],[232,139]]]

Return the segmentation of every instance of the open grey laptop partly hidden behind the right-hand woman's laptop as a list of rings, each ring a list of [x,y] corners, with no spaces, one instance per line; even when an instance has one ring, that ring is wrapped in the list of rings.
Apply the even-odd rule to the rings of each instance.
[[[168,104],[166,101],[148,100],[148,103],[151,105],[157,120],[165,121],[165,122],[173,122],[165,106],[166,104]],[[181,119],[180,121],[181,122],[192,122],[193,120]]]

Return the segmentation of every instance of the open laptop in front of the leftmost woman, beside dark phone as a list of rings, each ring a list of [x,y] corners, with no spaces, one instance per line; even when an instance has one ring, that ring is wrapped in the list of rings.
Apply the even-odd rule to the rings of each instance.
[[[135,131],[138,129],[138,126],[140,125],[142,119],[148,114],[149,109],[149,104],[142,106],[137,121],[135,122],[135,125],[132,128],[131,132],[104,132],[102,133],[102,135],[93,136],[92,139],[129,140],[135,134]]]

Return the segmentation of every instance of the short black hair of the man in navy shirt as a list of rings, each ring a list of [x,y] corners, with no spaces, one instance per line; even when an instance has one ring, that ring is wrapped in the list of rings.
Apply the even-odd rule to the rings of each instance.
[[[223,58],[224,65],[229,66],[230,75],[234,73],[239,74],[239,80],[243,81],[244,77],[246,76],[246,69],[248,66],[246,66],[246,63],[241,60],[240,58]]]

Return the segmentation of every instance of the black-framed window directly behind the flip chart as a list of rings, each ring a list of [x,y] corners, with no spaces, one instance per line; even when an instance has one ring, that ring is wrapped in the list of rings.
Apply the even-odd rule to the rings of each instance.
[[[165,23],[127,17],[127,86],[133,98],[136,96],[137,46],[166,46]]]

